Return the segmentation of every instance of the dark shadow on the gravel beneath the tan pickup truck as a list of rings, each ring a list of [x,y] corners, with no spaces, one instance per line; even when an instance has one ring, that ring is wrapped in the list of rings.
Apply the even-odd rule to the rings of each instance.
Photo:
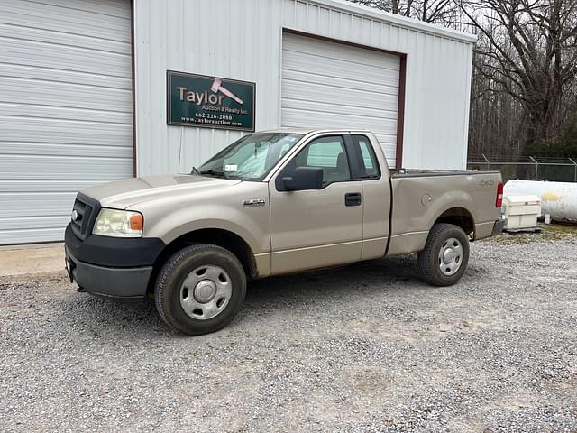
[[[283,309],[294,309],[291,305],[294,303],[323,303],[335,298],[341,301],[353,300],[359,293],[370,297],[379,296],[384,290],[390,292],[426,287],[418,279],[413,256],[271,277],[249,284],[245,305],[231,326],[250,321],[252,312],[263,306],[282,312]],[[74,290],[71,285],[70,290]],[[151,299],[137,304],[117,303],[74,291],[71,297],[64,300],[67,305],[60,304],[64,308],[56,309],[54,313],[59,316],[59,320],[68,322],[70,327],[80,333],[114,336],[117,340],[127,340],[136,335],[149,338],[181,336],[161,320]]]

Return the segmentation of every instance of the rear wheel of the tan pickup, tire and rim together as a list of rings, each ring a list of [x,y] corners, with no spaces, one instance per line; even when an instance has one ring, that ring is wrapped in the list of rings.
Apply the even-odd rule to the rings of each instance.
[[[469,238],[453,224],[435,224],[425,249],[417,253],[417,267],[423,280],[435,286],[452,286],[461,280],[469,263]]]

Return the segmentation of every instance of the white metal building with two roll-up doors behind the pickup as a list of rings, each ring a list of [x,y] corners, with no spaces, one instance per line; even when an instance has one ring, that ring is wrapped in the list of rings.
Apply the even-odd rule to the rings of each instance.
[[[0,2],[0,244],[61,240],[78,189],[188,172],[245,134],[167,123],[167,71],[255,83],[254,128],[374,131],[464,169],[475,37],[343,0]]]

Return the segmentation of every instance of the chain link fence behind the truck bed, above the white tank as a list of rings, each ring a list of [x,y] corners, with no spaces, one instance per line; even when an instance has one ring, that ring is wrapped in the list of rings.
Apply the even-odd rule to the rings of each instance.
[[[511,179],[577,182],[577,157],[495,157],[472,153],[467,170],[499,170],[505,182]]]

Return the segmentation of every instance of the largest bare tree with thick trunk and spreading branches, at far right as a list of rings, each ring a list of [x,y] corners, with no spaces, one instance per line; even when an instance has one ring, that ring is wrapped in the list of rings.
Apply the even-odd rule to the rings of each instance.
[[[523,150],[554,143],[577,84],[577,0],[465,0],[459,6],[481,35],[475,71],[483,90],[507,94],[522,108]]]

